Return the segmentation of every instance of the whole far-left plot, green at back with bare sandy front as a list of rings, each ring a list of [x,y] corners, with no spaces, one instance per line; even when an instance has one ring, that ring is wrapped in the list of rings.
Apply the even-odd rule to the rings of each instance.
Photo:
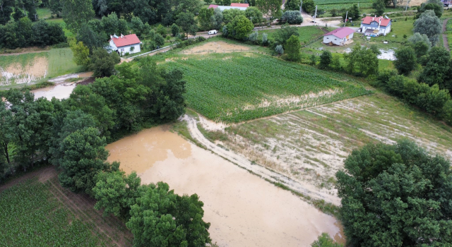
[[[23,84],[47,76],[47,52],[1,56],[0,85]]]

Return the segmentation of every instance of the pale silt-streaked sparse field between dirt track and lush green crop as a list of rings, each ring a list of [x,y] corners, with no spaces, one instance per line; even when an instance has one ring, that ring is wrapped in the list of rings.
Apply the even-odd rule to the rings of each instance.
[[[452,161],[450,127],[379,92],[233,125],[218,136],[249,160],[333,195],[335,172],[367,143],[408,138]]]

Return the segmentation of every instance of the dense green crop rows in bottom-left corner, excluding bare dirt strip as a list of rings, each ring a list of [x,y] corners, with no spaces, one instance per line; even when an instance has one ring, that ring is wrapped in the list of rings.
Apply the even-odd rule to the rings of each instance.
[[[0,246],[105,246],[48,187],[29,180],[0,193]]]

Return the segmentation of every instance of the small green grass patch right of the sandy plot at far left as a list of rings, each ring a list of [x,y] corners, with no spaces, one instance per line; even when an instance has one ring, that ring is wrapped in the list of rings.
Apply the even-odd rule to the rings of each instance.
[[[76,73],[82,70],[82,66],[73,61],[71,48],[51,49],[49,51],[49,77],[56,77],[68,73]]]

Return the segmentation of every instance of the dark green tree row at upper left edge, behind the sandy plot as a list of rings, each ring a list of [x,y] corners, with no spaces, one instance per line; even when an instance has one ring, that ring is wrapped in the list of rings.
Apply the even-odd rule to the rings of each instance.
[[[66,42],[66,36],[60,25],[39,20],[35,23],[28,17],[10,20],[0,25],[0,47],[16,49],[18,47],[44,47]]]

